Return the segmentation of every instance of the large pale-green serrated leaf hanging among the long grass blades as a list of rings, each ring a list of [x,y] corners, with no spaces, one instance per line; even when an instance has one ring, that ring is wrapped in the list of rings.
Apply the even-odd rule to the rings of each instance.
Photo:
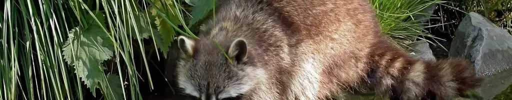
[[[98,14],[96,18],[99,23],[91,15],[87,15],[89,27],[72,29],[62,48],[66,62],[75,67],[75,73],[91,89],[94,96],[98,82],[103,80],[103,69],[100,64],[113,56],[114,47],[108,41],[108,33],[101,29],[101,26],[105,25],[103,15]]]

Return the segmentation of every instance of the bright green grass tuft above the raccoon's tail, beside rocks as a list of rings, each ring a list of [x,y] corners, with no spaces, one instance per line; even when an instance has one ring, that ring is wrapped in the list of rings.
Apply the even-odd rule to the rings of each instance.
[[[396,46],[409,49],[409,43],[418,39],[425,40],[426,37],[437,38],[424,30],[431,27],[424,21],[430,18],[431,13],[425,10],[434,4],[443,3],[440,0],[370,0],[376,10],[381,33],[387,36]],[[420,17],[424,16],[424,17]]]

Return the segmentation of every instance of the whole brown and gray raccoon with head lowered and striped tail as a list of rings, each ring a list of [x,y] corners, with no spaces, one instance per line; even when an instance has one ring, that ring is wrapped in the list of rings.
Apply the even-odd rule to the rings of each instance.
[[[195,99],[331,99],[363,87],[391,99],[451,99],[479,86],[472,64],[409,57],[368,0],[219,0],[197,37],[177,38],[177,83]]]

